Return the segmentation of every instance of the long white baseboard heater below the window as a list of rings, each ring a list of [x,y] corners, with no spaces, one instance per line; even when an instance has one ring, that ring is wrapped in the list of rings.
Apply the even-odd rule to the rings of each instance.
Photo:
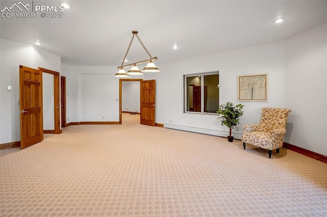
[[[170,123],[165,123],[164,127],[169,129],[197,132],[197,133],[208,134],[208,135],[216,135],[218,137],[226,137],[226,138],[229,135],[229,132],[224,132],[220,130],[204,129],[199,127],[183,126],[183,125],[170,124]],[[231,135],[234,137],[234,139],[238,139],[238,140],[240,140],[242,137],[242,133],[232,132]]]

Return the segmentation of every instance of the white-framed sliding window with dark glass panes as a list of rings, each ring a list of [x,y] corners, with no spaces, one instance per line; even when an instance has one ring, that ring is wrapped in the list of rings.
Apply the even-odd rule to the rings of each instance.
[[[217,113],[211,113],[211,112],[204,112],[204,76],[205,75],[215,75],[218,74],[218,80],[219,80],[219,71],[212,71],[212,72],[201,72],[201,73],[194,73],[194,74],[183,74],[183,113],[185,114],[198,114],[198,115],[218,115]],[[187,84],[187,78],[188,77],[195,77],[195,76],[201,76],[201,112],[193,112],[193,111],[187,111],[188,108],[188,90],[189,88]],[[220,95],[219,95],[220,96]]]

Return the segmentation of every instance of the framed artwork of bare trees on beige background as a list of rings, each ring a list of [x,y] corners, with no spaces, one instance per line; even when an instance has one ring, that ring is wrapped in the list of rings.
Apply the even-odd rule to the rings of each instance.
[[[267,74],[238,76],[239,101],[267,101]]]

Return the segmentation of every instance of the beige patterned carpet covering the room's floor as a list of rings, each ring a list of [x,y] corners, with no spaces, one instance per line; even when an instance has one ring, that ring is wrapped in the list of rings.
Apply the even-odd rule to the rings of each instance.
[[[1,216],[327,216],[327,164],[139,124],[0,150]]]

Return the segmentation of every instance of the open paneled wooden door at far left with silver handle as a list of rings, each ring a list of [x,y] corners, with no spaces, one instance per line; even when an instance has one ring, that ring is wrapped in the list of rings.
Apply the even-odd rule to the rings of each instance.
[[[19,66],[20,148],[43,140],[42,71]]]

